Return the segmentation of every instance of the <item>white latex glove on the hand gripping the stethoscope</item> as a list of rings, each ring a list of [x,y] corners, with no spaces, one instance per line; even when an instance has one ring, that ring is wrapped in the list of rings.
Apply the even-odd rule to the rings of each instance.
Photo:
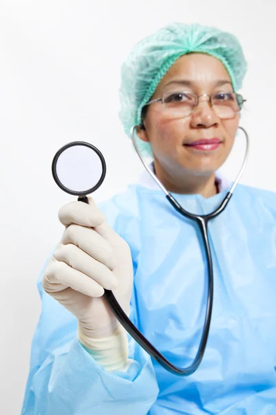
[[[89,205],[68,203],[59,210],[65,225],[60,243],[42,279],[46,293],[78,320],[78,336],[106,370],[121,370],[128,360],[126,331],[108,308],[103,288],[112,290],[125,313],[130,312],[133,271],[126,241]]]

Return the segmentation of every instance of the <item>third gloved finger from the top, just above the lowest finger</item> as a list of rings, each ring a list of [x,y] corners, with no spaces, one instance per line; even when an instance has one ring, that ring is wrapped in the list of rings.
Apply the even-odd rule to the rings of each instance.
[[[63,261],[75,270],[88,275],[107,290],[114,290],[118,286],[118,280],[109,268],[72,243],[68,243],[68,245],[59,243],[53,257],[57,261]]]

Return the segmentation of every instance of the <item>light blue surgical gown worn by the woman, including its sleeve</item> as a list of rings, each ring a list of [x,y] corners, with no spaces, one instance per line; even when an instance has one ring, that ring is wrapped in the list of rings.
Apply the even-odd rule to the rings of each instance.
[[[225,194],[174,196],[186,210],[206,214]],[[100,207],[131,248],[132,321],[174,365],[189,365],[206,312],[197,223],[177,213],[163,192],[142,185]],[[75,317],[43,292],[40,276],[42,311],[22,415],[275,415],[276,194],[238,185],[210,221],[209,236],[213,315],[195,374],[170,374],[134,340],[128,371],[106,372],[77,340]]]

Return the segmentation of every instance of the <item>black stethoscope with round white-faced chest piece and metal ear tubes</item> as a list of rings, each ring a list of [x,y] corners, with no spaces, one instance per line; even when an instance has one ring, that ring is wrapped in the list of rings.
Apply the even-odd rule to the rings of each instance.
[[[185,368],[180,368],[175,365],[172,365],[171,362],[169,362],[157,349],[155,349],[154,346],[144,337],[144,335],[137,329],[137,327],[131,322],[131,320],[128,318],[126,313],[124,313],[123,309],[117,302],[117,299],[115,298],[114,294],[110,290],[104,290],[103,298],[106,300],[106,303],[110,307],[110,310],[112,313],[117,317],[117,320],[121,323],[122,326],[124,326],[124,329],[128,331],[128,333],[134,338],[137,343],[140,344],[141,347],[143,347],[144,350],[159,364],[164,367],[164,369],[172,372],[173,374],[177,374],[179,376],[189,376],[193,374],[197,368],[199,367],[201,360],[204,356],[204,351],[206,349],[206,344],[208,340],[208,334],[210,330],[210,322],[211,322],[211,316],[212,316],[212,309],[213,309],[213,296],[214,296],[214,277],[213,277],[213,262],[212,262],[212,255],[210,251],[210,243],[208,239],[208,222],[210,219],[214,219],[216,216],[218,216],[223,210],[226,208],[228,202],[230,201],[230,198],[235,190],[235,187],[237,186],[237,183],[239,183],[239,179],[241,178],[244,169],[246,167],[246,162],[248,159],[248,149],[249,149],[249,139],[248,134],[246,133],[246,130],[242,127],[239,127],[242,131],[244,131],[244,134],[246,136],[246,153],[244,156],[244,161],[242,163],[242,168],[239,170],[239,174],[237,175],[237,178],[235,179],[235,182],[233,183],[232,187],[230,188],[229,192],[224,197],[224,200],[221,202],[221,204],[218,206],[218,208],[214,212],[210,212],[209,214],[193,214],[188,211],[186,211],[184,208],[179,205],[177,200],[166,190],[164,185],[159,181],[157,176],[154,172],[150,169],[150,167],[146,164],[144,161],[144,158],[141,156],[139,147],[137,146],[137,142],[135,140],[135,131],[137,126],[132,127],[131,129],[131,138],[132,143],[135,147],[135,150],[137,151],[137,154],[143,163],[144,167],[146,167],[146,170],[152,176],[152,178],[155,180],[155,182],[159,185],[161,190],[166,194],[166,199],[170,202],[173,208],[177,210],[181,215],[185,216],[188,219],[192,219],[193,221],[197,222],[199,225],[199,230],[202,235],[202,239],[204,241],[204,250],[206,253],[206,259],[207,259],[207,267],[208,267],[208,296],[207,296],[207,304],[206,304],[206,315],[204,320],[204,327],[202,330],[201,340],[199,343],[199,348],[197,351],[197,354],[195,356],[195,359],[193,362]],[[75,190],[76,188],[76,180],[74,176],[74,168],[76,163],[72,163],[72,160],[74,160],[74,154],[72,154],[72,149],[77,149],[79,154],[83,153],[83,149],[86,149],[86,155],[85,160],[86,163],[88,163],[87,167],[91,167],[92,165],[97,165],[97,169],[99,170],[99,166],[101,166],[101,171],[96,172],[96,178],[95,183],[93,183],[92,187],[89,187],[88,185],[84,186],[83,190]],[[87,156],[88,149],[92,150],[92,153]],[[67,153],[66,153],[67,151]],[[70,154],[71,151],[71,154]],[[83,153],[84,154],[84,153]],[[76,155],[76,154],[75,154]],[[83,156],[81,156],[83,157]],[[79,163],[79,168],[83,169],[83,160]],[[66,167],[64,167],[66,166]],[[66,172],[66,174],[64,174]],[[68,181],[68,172],[71,173],[72,178],[70,181]],[[88,174],[88,169],[83,170],[83,173]],[[73,174],[72,174],[73,173]],[[91,176],[95,176],[95,171],[89,172]],[[55,154],[55,157],[52,161],[52,175],[59,187],[61,187],[62,190],[69,194],[74,194],[78,196],[78,201],[83,201],[84,203],[88,203],[88,198],[86,197],[87,194],[90,194],[97,190],[97,188],[101,185],[103,182],[103,179],[106,175],[106,162],[103,158],[103,155],[101,154],[101,151],[97,149],[97,147],[90,145],[88,142],[71,142],[59,149],[57,151],[57,154]],[[67,175],[67,176],[66,176]],[[67,181],[67,183],[66,183]]]

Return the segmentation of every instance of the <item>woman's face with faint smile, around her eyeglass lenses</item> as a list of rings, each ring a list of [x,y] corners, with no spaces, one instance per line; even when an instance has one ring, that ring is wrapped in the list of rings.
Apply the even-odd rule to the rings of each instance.
[[[210,55],[193,53],[177,59],[159,82],[152,100],[164,93],[189,91],[197,95],[233,91],[225,66]],[[144,127],[137,129],[139,138],[150,142],[155,163],[170,177],[210,176],[226,160],[233,147],[239,124],[239,113],[220,119],[208,97],[199,98],[195,111],[185,118],[172,118],[161,102],[147,107]],[[219,140],[218,146],[193,146],[198,140]],[[210,149],[210,147],[217,147]]]

